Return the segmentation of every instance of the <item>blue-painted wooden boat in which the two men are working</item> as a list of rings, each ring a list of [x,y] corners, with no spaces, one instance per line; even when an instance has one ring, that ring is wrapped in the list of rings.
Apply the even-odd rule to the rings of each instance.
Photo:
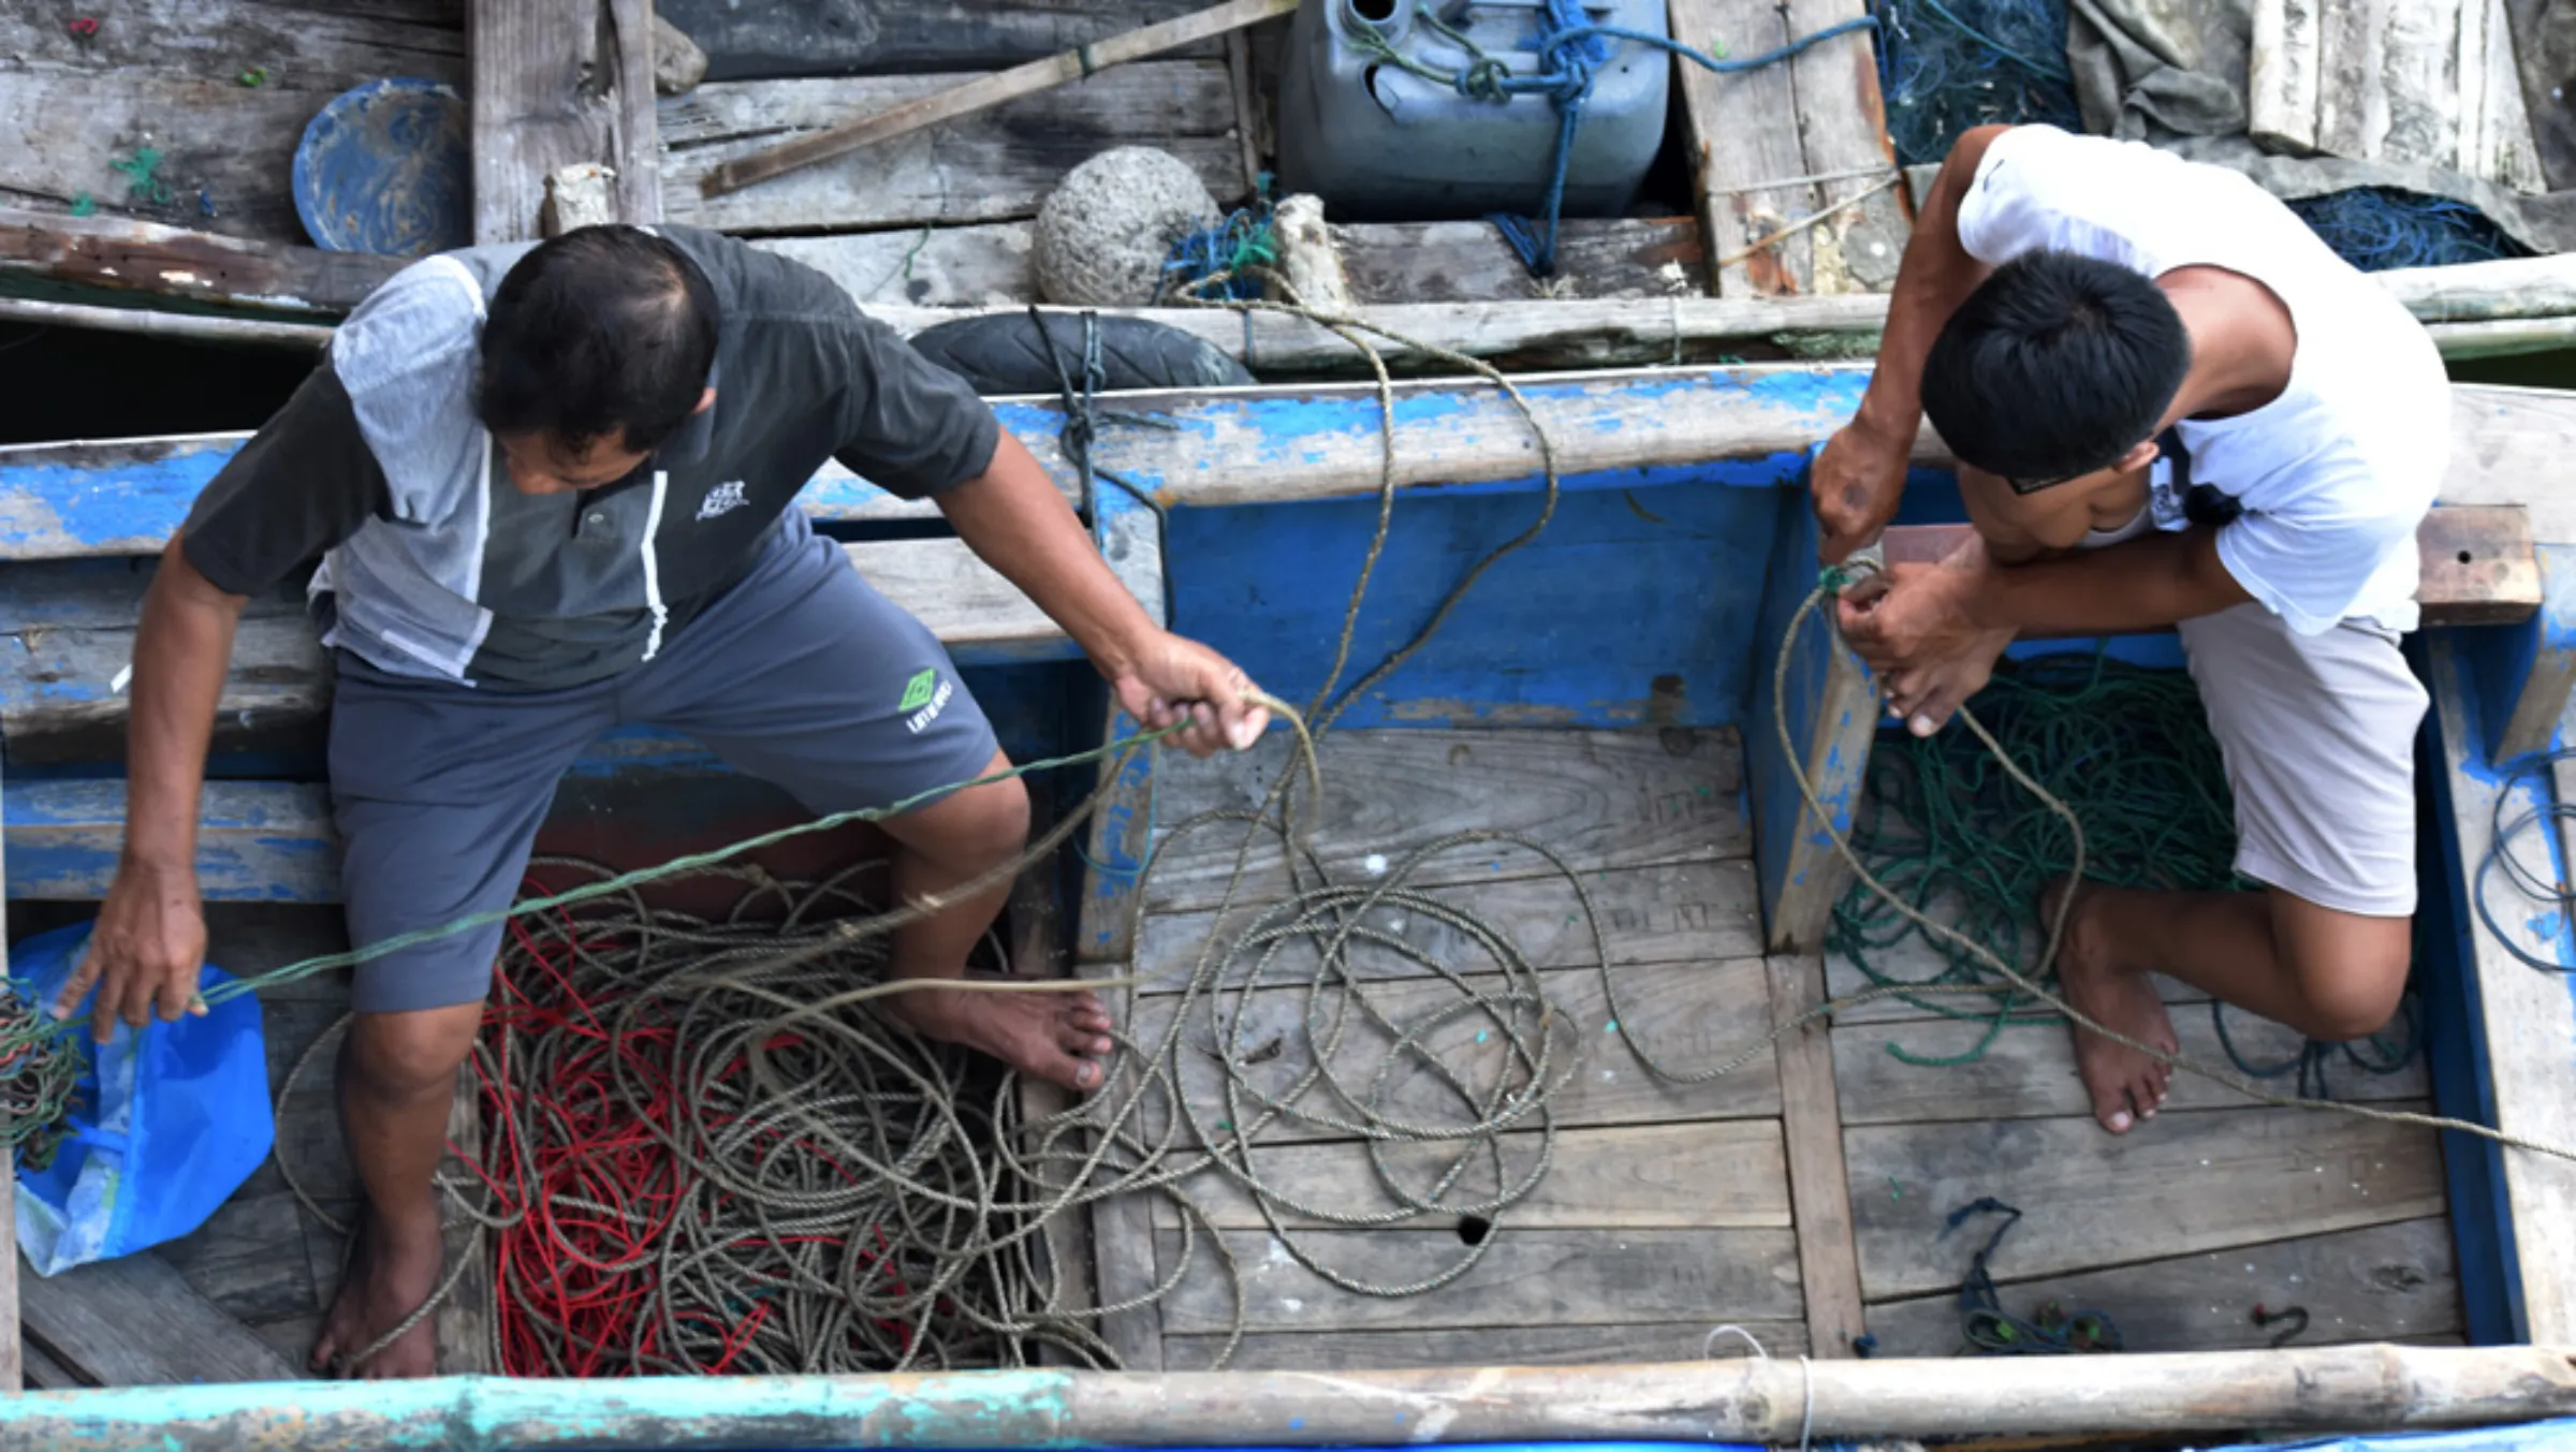
[[[1850,656],[1801,636],[1777,703],[1793,741],[1783,747],[1772,662],[1816,584],[1803,461],[1850,414],[1862,373],[1669,368],[1517,386],[1548,435],[1553,520],[1350,708],[1324,747],[1311,842],[1334,873],[1365,873],[1368,855],[1458,826],[1556,844],[1592,880],[1623,981],[1659,1019],[1687,1027],[1690,1048],[1721,1050],[1839,991],[1819,950],[1839,862],[1790,765],[1847,826],[1875,705]],[[2494,386],[2455,396],[2452,474],[2419,535],[2416,651],[2437,703],[2421,777],[2434,821],[2424,883],[2434,1032],[2427,1068],[2385,1094],[2576,1143],[2576,999],[2514,958],[2576,963],[2568,924],[2537,904],[2504,914],[2512,940],[2499,940],[2470,909],[2496,824],[2553,811],[2568,790],[2548,770],[2506,765],[2558,739],[2576,677],[2576,505],[2548,487],[2576,440],[2576,399]],[[1285,698],[1329,664],[1381,481],[1394,484],[1394,530],[1360,615],[1360,664],[1412,636],[1479,556],[1538,517],[1546,492],[1528,420],[1473,381],[1399,384],[1391,409],[1376,389],[1345,384],[1121,396],[1121,412],[1172,425],[1113,427],[1100,445],[1144,499],[1082,497],[1051,443],[1064,422],[1054,402],[999,409],[1084,507],[1139,600]],[[118,669],[147,559],[237,443],[0,451],[0,608],[18,641],[0,664],[0,814],[21,924],[80,914],[108,883],[121,834]],[[1937,440],[1924,440],[1919,463],[1932,497]],[[1015,754],[1123,729],[1097,693],[1082,695],[1069,644],[963,546],[938,538],[922,507],[848,476],[819,479],[806,507],[850,541],[863,574],[951,641]],[[1891,535],[1891,551],[1917,543]],[[222,780],[206,793],[201,880],[216,898],[216,963],[294,955],[296,945],[255,942],[281,922],[301,924],[301,945],[327,935],[332,850],[314,757],[325,708],[327,667],[309,626],[291,602],[263,602],[242,626]],[[1133,865],[1180,816],[1252,793],[1283,752],[1275,734],[1221,762],[1139,757],[1103,783],[1090,868],[1064,904],[1074,971],[1151,968],[1211,932],[1218,862],[1180,857],[1146,893]],[[690,741],[621,734],[567,783],[549,842],[644,865],[788,819],[783,801]],[[2561,873],[2548,834],[2504,850]],[[1486,904],[1540,968],[1577,963],[1548,958],[1551,898],[1520,878],[1489,886],[1486,873],[1466,862],[1425,883]],[[1582,971],[1564,973],[1571,994]],[[1126,1012],[1157,1009],[1141,996]],[[273,1032],[286,1056],[301,1045],[283,1038],[309,1038],[319,1022],[278,1012]],[[1247,1370],[1200,1370],[1226,1331],[1208,1310],[1221,1292],[1182,1282],[1162,1305],[1103,1318],[1128,1372],[263,1382],[294,1375],[278,1352],[309,1334],[327,1290],[312,1272],[312,1228],[289,1205],[268,1238],[245,1218],[224,1228],[222,1251],[170,1246],[152,1256],[157,1269],[113,1272],[116,1295],[139,1300],[82,1310],[67,1290],[80,1272],[21,1277],[21,1313],[5,1326],[23,1321],[28,1377],[54,1390],[0,1398],[0,1447],[2074,1439],[2576,1413],[2566,1354],[2576,1166],[2200,1089],[2151,1130],[2112,1140],[2084,1117],[2053,1030],[2025,1035],[2027,1053],[1965,1089],[1909,1079],[1878,1053],[1883,1038],[1873,1022],[1837,1022],[1783,1038],[1770,1061],[1708,1089],[1587,1089],[1558,1130],[1551,1184],[1564,1189],[1510,1225],[1471,1280],[1409,1305],[1327,1300],[1303,1272],[1257,1274],[1234,1362]],[[1953,1102],[1924,1107],[1942,1097]],[[1321,1161],[1311,1174],[1332,1184]],[[2148,1354],[2081,1367],[1919,1359],[1947,1349],[1945,1326],[1955,1334],[1942,1318],[1965,1251],[1942,1243],[1940,1220],[1973,1195],[2004,1195],[2045,1220],[2017,1243],[2027,1259],[1996,1269],[2007,1290],[2115,1300],[2130,1310],[2130,1346]],[[1218,1200],[1216,1233],[1257,1261],[1262,1220]],[[1090,1251],[1074,1238],[1051,1249],[1082,1256],[1095,1305],[1180,1274],[1144,1205],[1103,1202],[1082,1231]],[[1404,1246],[1455,1246],[1458,1233],[1417,1220],[1337,1243],[1378,1254],[1406,1236]],[[265,1277],[250,1277],[255,1290],[242,1290],[245,1267]],[[301,1287],[301,1310],[276,1313],[278,1274],[289,1292]],[[2267,1349],[2269,1331],[2246,1323],[2249,1300],[2280,1295],[2267,1287],[2300,1287],[2290,1295],[2311,1308],[2306,1344]],[[157,1372],[75,1364],[85,1344],[149,1349],[134,1326],[152,1318],[188,1334]],[[1716,1323],[1744,1326],[1770,1354],[1703,1359]],[[461,1331],[443,1318],[448,1367],[466,1349]],[[1878,1359],[1850,1357],[1862,1334],[1878,1336]],[[155,1375],[204,1385],[85,1385]]]

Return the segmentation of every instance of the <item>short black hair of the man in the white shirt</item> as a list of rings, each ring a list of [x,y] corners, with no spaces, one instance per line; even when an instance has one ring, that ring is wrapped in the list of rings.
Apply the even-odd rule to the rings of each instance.
[[[2063,481],[2154,438],[2190,366],[2192,337],[2151,278],[2099,257],[2025,252],[1932,340],[1924,417],[1963,463]]]

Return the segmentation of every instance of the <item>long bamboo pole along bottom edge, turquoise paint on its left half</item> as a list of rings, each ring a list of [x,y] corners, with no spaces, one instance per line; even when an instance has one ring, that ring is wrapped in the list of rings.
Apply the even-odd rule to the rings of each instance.
[[[2318,1346],[1986,1362],[240,1382],[0,1398],[0,1449],[1399,1447],[2491,1426],[2576,1411],[2568,1352]]]

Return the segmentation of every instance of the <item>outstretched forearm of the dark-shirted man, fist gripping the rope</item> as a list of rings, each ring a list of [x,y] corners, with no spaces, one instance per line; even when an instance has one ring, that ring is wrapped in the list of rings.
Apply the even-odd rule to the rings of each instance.
[[[1177,741],[1208,754],[1249,747],[1270,713],[1224,656],[1164,631],[1110,574],[1082,520],[1028,448],[1005,430],[976,479],[938,494],[940,512],[984,564],[1020,587],[1082,646],[1146,726],[1193,721]]]

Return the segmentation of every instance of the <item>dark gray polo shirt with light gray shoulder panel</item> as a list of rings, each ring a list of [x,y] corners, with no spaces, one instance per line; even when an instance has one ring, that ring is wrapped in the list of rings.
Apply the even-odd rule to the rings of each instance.
[[[827,458],[899,497],[992,463],[999,422],[822,273],[662,227],[719,314],[716,402],[631,476],[523,494],[474,417],[482,317],[528,245],[415,263],[206,484],[183,551],[258,595],[322,559],[325,641],[376,669],[495,687],[605,680],[724,595]]]

